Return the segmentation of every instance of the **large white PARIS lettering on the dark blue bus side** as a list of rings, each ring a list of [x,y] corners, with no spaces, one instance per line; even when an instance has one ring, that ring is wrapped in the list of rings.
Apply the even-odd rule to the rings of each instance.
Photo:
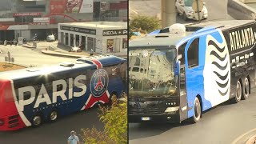
[[[38,95],[36,95],[36,90],[33,86],[25,86],[18,89],[18,106],[19,110],[23,111],[24,106],[34,103],[34,108],[38,108],[41,103],[46,102],[47,105],[57,102],[57,98],[62,98],[62,101],[67,99],[81,97],[86,94],[87,87],[82,81],[86,80],[86,75],[78,75],[76,78],[69,78],[68,83],[64,79],[59,79],[52,82],[52,97],[50,98],[49,93],[46,90],[44,84],[41,85]],[[74,86],[81,89],[79,92],[73,91]],[[61,87],[62,90],[58,90]],[[68,89],[67,89],[68,88]],[[66,95],[66,90],[68,90],[68,95]],[[29,93],[29,94],[28,94]],[[29,95],[29,98],[25,98],[25,95]]]

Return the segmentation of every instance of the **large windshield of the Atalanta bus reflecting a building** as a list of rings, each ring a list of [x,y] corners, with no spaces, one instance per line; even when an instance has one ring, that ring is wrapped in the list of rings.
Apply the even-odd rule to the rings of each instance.
[[[168,97],[176,94],[175,49],[129,51],[130,97]]]

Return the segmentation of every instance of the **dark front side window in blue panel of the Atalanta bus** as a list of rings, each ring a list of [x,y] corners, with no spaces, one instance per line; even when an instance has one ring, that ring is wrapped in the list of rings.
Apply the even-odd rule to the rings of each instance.
[[[187,50],[187,60],[189,68],[198,66],[198,45],[199,45],[199,38],[194,39],[191,42],[189,49]]]

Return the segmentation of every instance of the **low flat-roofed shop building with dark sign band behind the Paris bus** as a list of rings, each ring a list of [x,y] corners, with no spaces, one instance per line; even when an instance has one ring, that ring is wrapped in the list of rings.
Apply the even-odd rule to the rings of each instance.
[[[72,22],[58,24],[58,42],[102,54],[127,54],[126,22]]]

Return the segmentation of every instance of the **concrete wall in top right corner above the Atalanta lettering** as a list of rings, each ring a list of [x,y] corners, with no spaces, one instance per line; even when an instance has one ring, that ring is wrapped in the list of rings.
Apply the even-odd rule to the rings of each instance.
[[[256,17],[256,10],[239,0],[228,0],[228,14],[235,19],[254,20]]]

